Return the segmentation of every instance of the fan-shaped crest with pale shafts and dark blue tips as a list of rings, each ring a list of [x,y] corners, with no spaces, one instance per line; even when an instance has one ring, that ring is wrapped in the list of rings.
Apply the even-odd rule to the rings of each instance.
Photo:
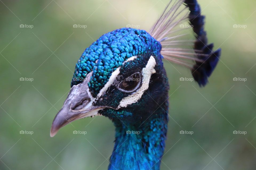
[[[213,51],[208,44],[204,24],[196,0],[171,0],[149,31],[161,43],[162,56],[188,67],[199,86],[207,84],[221,55],[221,49]]]

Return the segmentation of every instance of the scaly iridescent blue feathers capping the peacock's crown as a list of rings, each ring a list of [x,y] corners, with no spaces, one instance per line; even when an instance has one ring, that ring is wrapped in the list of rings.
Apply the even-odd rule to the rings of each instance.
[[[96,96],[111,73],[132,56],[151,54],[161,57],[161,44],[145,30],[120,28],[102,35],[85,49],[76,64],[73,85],[83,81],[93,71],[89,88]]]

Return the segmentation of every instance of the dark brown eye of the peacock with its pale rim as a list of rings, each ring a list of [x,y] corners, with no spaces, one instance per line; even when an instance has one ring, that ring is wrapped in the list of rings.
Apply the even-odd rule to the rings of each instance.
[[[138,89],[140,83],[141,75],[139,73],[134,73],[119,83],[119,90],[127,93],[134,92]]]

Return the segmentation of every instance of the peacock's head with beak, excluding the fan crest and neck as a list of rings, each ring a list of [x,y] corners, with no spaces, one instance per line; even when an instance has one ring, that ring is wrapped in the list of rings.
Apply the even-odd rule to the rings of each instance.
[[[145,107],[155,109],[159,92],[169,89],[161,48],[144,30],[121,28],[101,36],[78,60],[51,136],[71,121],[98,114],[126,122],[148,117]]]

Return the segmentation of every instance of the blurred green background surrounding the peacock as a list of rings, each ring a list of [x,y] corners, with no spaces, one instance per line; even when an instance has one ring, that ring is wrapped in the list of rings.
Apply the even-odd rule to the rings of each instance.
[[[167,3],[1,0],[0,169],[107,169],[114,146],[109,119],[75,121],[54,138],[49,135],[51,123],[84,49],[104,33],[128,24],[149,30]],[[179,81],[191,78],[190,71],[164,63],[172,95],[161,169],[256,169],[256,2],[199,3],[209,42],[222,48],[221,61],[205,88]],[[74,130],[87,134],[73,134]],[[181,130],[193,134],[180,134]],[[233,134],[235,130],[246,134]]]

